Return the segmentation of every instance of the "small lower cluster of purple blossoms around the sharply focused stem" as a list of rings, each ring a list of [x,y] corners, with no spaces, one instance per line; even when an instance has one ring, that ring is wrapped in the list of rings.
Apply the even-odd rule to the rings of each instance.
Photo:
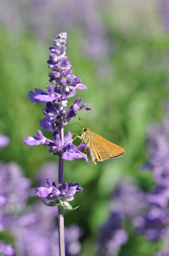
[[[79,187],[78,183],[74,185],[72,183],[67,184],[64,182],[59,188],[56,188],[55,183],[51,183],[49,178],[46,179],[47,187],[37,188],[38,197],[46,198],[48,200],[56,200],[59,202],[72,201],[74,199],[74,194],[83,190]]]

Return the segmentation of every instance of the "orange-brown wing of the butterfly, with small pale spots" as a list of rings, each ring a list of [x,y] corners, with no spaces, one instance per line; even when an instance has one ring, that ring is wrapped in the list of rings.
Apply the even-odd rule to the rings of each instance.
[[[93,132],[88,150],[89,153],[91,151],[92,155],[94,152],[97,161],[103,161],[108,158],[117,158],[125,154],[125,150],[122,147],[104,139],[100,135],[97,135]]]

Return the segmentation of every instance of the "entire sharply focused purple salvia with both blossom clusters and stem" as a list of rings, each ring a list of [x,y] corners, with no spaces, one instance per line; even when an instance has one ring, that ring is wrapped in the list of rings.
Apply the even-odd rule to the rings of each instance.
[[[75,158],[84,158],[85,164],[88,163],[87,155],[80,152],[80,150],[85,150],[87,145],[80,144],[79,146],[75,146],[72,143],[73,135],[69,131],[64,136],[64,125],[76,117],[77,110],[83,108],[90,110],[86,106],[86,103],[83,103],[81,106],[79,105],[81,102],[79,97],[74,100],[73,105],[66,108],[68,99],[76,95],[76,89],[87,89],[85,85],[81,84],[81,79],[72,74],[73,70],[65,52],[67,49],[65,46],[66,39],[67,33],[59,34],[54,40],[54,47],[49,48],[51,53],[49,54],[47,63],[48,67],[52,70],[49,73],[49,82],[55,84],[55,87],[53,88],[51,85],[48,85],[46,88],[47,92],[37,88],[35,92],[29,92],[30,101],[45,105],[42,113],[46,117],[40,121],[40,125],[44,130],[52,132],[53,140],[46,138],[40,130],[37,130],[38,137],[28,136],[24,138],[26,145],[34,146],[43,144],[49,147],[49,153],[58,156],[58,188],[54,182],[51,183],[49,178],[47,178],[46,182],[48,186],[38,187],[37,196],[50,200],[48,204],[44,202],[47,206],[58,205],[60,212],[58,216],[59,250],[62,255],[65,255],[64,240],[61,239],[61,237],[64,237],[64,222],[62,221],[62,218],[64,218],[63,208],[67,210],[76,209],[77,207],[73,209],[68,201],[72,201],[74,194],[83,189],[78,186],[78,183],[74,185],[72,183],[63,183],[64,160],[71,161]]]

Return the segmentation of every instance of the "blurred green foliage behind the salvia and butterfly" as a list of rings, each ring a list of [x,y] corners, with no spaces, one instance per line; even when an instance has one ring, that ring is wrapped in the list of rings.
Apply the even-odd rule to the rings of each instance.
[[[81,110],[78,117],[95,133],[122,146],[126,154],[96,166],[90,159],[87,166],[84,159],[65,161],[64,180],[78,181],[84,187],[72,202],[73,207],[80,207],[65,216],[66,225],[75,222],[83,228],[81,256],[95,255],[98,230],[109,215],[109,200],[120,178],[132,176],[144,190],[153,185],[151,173],[139,173],[138,167],[146,161],[147,127],[152,121],[161,120],[169,97],[169,34],[155,29],[155,33],[147,33],[141,25],[139,31],[124,32],[116,24],[112,25],[104,13],[103,17],[109,40],[115,45],[106,59],[108,75],[99,76],[97,61],[82,55],[83,35],[78,30],[69,31],[66,52],[73,74],[88,87],[87,91],[77,90],[76,96],[92,108],[90,112]],[[0,133],[11,139],[10,145],[1,151],[1,159],[17,162],[33,182],[36,170],[47,160],[57,162],[58,159],[43,145],[28,147],[23,143],[23,137],[41,130],[39,121],[44,118],[41,112],[44,106],[30,102],[28,92],[35,87],[45,90],[50,84],[46,63],[48,47],[61,32],[56,30],[50,38],[51,44],[47,45],[35,39],[30,31],[16,37],[0,28]],[[77,124],[65,127],[65,133],[68,129],[81,133]],[[44,131],[44,135],[52,139],[50,133]],[[160,242],[154,244],[131,235],[120,256],[148,256],[160,249]]]

